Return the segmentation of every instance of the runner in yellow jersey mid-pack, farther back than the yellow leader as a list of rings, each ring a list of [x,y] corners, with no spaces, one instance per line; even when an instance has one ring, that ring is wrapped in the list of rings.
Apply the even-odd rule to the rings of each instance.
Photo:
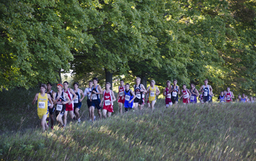
[[[151,109],[154,109],[154,104],[156,103],[156,95],[160,94],[159,89],[155,86],[156,81],[152,80],[150,86],[147,88],[148,101],[150,103]]]

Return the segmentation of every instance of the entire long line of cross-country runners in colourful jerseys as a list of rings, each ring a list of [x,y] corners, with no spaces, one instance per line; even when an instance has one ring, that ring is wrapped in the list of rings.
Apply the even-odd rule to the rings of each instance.
[[[51,129],[54,125],[54,112],[56,115],[56,120],[60,123],[61,127],[67,125],[67,113],[69,112],[70,118],[72,120],[81,122],[79,109],[81,108],[82,101],[84,97],[87,96],[87,105],[89,111],[89,118],[91,122],[95,121],[94,110],[97,109],[99,118],[104,118],[111,116],[113,113],[113,102],[118,99],[119,112],[122,114],[122,109],[124,105],[125,112],[134,111],[138,108],[143,109],[145,105],[145,100],[147,100],[148,108],[154,109],[154,104],[156,103],[156,96],[160,94],[159,88],[155,86],[156,82],[154,80],[150,81],[150,85],[147,89],[141,84],[141,79],[136,78],[136,84],[133,88],[130,87],[129,83],[124,83],[124,80],[120,80],[120,86],[118,87],[118,94],[115,94],[111,88],[111,83],[106,83],[106,88],[103,91],[98,84],[98,79],[93,78],[93,81],[88,82],[88,88],[83,90],[79,89],[79,84],[75,82],[73,84],[74,89],[68,88],[68,82],[64,81],[58,83],[58,92],[52,91],[51,83],[47,85],[40,85],[40,93],[35,95],[32,104],[36,103],[38,117],[41,120],[42,130],[47,130],[49,125],[49,120],[51,120]],[[166,108],[172,106],[173,104],[177,106],[179,100],[182,99],[184,104],[197,103],[198,101],[202,103],[212,102],[212,87],[208,85],[208,80],[204,80],[204,85],[196,90],[195,85],[191,84],[191,88],[187,88],[186,85],[182,85],[182,89],[177,85],[177,80],[173,80],[173,85],[171,81],[166,81],[166,87],[163,90],[163,95],[165,97]],[[100,99],[100,95],[102,95]],[[179,97],[180,95],[180,97]],[[197,99],[198,98],[198,99]],[[227,88],[227,91],[221,92],[218,97],[220,102],[232,102],[234,99],[234,94]],[[252,100],[251,100],[252,99]],[[254,98],[250,98],[253,102]],[[239,95],[237,101],[248,102],[246,95]],[[102,115],[101,110],[102,109]],[[63,119],[63,120],[62,120]]]

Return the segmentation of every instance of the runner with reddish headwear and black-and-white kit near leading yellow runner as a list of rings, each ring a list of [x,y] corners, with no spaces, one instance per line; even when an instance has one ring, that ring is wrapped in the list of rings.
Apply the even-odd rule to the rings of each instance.
[[[58,89],[58,92],[56,92],[53,95],[53,97],[54,97],[53,104],[55,104],[55,106],[56,106],[55,115],[56,115],[57,121],[61,124],[61,127],[65,127],[67,125],[67,120],[65,121],[65,119],[64,119],[64,123],[63,123],[62,116],[66,115],[66,118],[67,118],[68,111],[66,111],[66,105],[68,104],[68,102],[70,102],[70,99],[69,99],[68,95],[63,92],[62,83],[59,83],[57,85],[57,89]]]

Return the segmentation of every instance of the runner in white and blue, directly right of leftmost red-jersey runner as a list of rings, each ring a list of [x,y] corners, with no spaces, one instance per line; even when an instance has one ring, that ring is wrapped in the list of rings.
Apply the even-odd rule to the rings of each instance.
[[[77,82],[75,82],[73,84],[73,86],[74,86],[74,92],[77,95],[76,99],[74,99],[74,109],[75,109],[74,113],[76,115],[77,122],[81,122],[80,115],[79,115],[79,109],[82,106],[82,101],[84,99],[84,93],[83,93],[83,90],[78,88],[79,85]],[[83,96],[82,98],[81,98],[81,95]]]

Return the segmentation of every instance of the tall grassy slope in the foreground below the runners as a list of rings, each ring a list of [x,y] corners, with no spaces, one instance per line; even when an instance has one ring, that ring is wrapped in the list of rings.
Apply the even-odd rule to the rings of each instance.
[[[3,160],[256,160],[256,104],[166,109],[159,99],[153,112],[115,113],[92,125],[83,101],[82,123],[42,133],[31,106],[36,92],[0,93]]]

